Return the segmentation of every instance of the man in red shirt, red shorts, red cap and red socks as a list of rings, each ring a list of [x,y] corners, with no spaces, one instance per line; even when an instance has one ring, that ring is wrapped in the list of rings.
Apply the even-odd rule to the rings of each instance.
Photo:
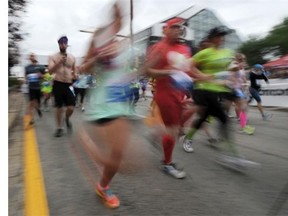
[[[162,135],[164,155],[161,168],[165,173],[177,179],[183,179],[186,176],[183,170],[176,167],[172,159],[181,124],[182,100],[186,94],[178,88],[181,84],[179,86],[177,81],[173,81],[173,77],[175,79],[178,75],[185,77],[184,72],[190,71],[190,63],[187,60],[191,57],[191,51],[189,47],[180,42],[184,22],[185,20],[179,17],[166,22],[163,28],[165,37],[150,49],[145,66],[147,75],[156,80],[153,98],[166,127],[166,132]],[[192,83],[191,78],[184,79],[186,79],[185,82],[190,80]]]

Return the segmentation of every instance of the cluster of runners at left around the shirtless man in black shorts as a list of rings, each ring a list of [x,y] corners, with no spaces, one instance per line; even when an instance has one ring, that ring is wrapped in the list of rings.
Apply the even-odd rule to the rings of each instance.
[[[29,107],[27,114],[31,116],[30,125],[34,124],[34,110],[42,117],[42,111],[48,112],[52,106],[56,107],[55,137],[63,135],[63,107],[65,123],[68,132],[72,130],[70,116],[76,102],[79,100],[81,110],[84,111],[84,97],[86,88],[93,88],[95,77],[91,74],[79,74],[75,57],[66,53],[68,46],[67,36],[58,40],[59,51],[49,57],[47,66],[38,64],[34,53],[29,55],[30,64],[25,67],[25,80],[21,91],[28,94]],[[78,99],[80,97],[80,99]],[[54,102],[52,102],[52,98]]]

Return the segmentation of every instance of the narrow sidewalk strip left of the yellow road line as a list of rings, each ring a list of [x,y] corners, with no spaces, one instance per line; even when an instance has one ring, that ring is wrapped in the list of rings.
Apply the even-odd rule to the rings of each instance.
[[[23,125],[25,97],[21,92],[8,94],[8,211],[9,216],[23,212]]]

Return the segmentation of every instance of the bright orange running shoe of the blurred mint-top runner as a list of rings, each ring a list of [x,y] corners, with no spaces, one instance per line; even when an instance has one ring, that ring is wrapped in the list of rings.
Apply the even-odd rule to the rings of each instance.
[[[101,187],[99,183],[96,185],[96,194],[104,201],[104,204],[109,208],[118,208],[120,200],[112,193],[109,186]]]

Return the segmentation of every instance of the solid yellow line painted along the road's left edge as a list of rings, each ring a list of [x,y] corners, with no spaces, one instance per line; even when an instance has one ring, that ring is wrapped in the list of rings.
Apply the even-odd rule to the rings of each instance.
[[[24,215],[48,216],[44,178],[36,134],[33,127],[27,128],[31,117],[25,116],[24,122]]]

